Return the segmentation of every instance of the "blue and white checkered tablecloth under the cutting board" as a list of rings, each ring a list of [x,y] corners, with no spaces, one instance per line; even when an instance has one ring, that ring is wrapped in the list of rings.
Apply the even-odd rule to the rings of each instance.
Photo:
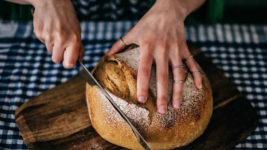
[[[137,21],[82,22],[84,63],[92,68]],[[257,110],[259,126],[236,149],[267,148],[267,25],[187,26],[186,38],[223,71]],[[54,64],[33,33],[33,23],[0,21],[0,149],[27,149],[15,111],[78,74]]]

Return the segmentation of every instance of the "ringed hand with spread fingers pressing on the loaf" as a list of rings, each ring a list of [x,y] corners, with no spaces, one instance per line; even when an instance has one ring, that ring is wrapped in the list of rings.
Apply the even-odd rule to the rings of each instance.
[[[190,57],[184,33],[184,19],[188,14],[181,1],[160,0],[140,19],[127,35],[122,37],[126,45],[140,46],[140,64],[137,75],[137,98],[145,103],[148,96],[152,62],[156,64],[157,109],[160,114],[167,111],[167,87],[169,65],[182,66],[182,59]],[[187,7],[188,8],[188,7]],[[118,53],[124,46],[118,40],[106,53],[106,57]],[[185,61],[192,72],[199,71],[193,57]],[[175,81],[184,81],[183,68],[172,69]],[[201,75],[192,74],[197,88],[202,88]],[[182,100],[183,83],[173,84],[172,106],[178,109]]]

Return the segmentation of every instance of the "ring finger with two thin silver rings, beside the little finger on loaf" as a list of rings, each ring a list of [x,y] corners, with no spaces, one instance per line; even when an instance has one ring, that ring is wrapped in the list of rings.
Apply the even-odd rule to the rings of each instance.
[[[171,58],[172,67],[174,66],[183,66],[181,57],[176,55],[176,57]],[[184,81],[185,72],[184,68],[173,68],[172,75],[174,81]],[[172,92],[172,106],[174,109],[179,109],[182,102],[182,93],[183,93],[183,84],[184,83],[173,83],[173,92]]]

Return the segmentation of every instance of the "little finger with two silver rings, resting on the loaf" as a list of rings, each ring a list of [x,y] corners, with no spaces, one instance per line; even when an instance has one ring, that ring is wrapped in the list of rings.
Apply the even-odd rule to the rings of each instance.
[[[188,55],[188,56],[191,56],[191,54]],[[189,68],[189,70],[191,72],[198,72],[199,71],[199,68],[197,67],[193,57],[191,57],[190,59],[186,60],[185,64],[186,64],[186,66]],[[200,73],[197,73],[197,74],[193,74],[192,73],[192,75],[194,77],[194,82],[195,82],[196,87],[199,88],[199,89],[202,88],[201,74]]]

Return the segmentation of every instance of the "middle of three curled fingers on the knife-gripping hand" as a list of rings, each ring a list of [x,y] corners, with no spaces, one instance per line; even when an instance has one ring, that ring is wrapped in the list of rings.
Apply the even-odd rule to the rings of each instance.
[[[52,61],[54,63],[60,63],[63,59],[65,47],[59,44],[59,42],[55,43],[52,50]]]

